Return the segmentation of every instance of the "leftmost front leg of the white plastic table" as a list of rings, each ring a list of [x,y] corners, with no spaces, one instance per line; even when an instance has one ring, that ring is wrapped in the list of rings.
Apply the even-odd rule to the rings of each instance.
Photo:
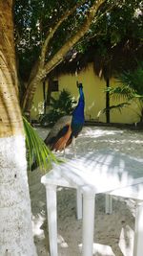
[[[56,186],[46,186],[47,212],[49,226],[49,240],[51,256],[58,256],[57,253],[57,210],[56,210]]]

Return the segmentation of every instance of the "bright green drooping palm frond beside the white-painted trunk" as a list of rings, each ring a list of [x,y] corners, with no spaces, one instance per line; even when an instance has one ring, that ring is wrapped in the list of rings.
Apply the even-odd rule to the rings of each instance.
[[[58,159],[49,150],[44,141],[38,135],[38,133],[31,127],[31,124],[23,117],[23,123],[26,134],[26,146],[27,146],[27,160],[29,169],[31,170],[31,164],[36,161],[37,166],[42,170],[49,170],[51,167],[51,161],[58,163]]]

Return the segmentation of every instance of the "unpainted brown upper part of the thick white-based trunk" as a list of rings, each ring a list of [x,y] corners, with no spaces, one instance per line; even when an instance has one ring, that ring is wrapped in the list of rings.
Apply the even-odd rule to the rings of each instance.
[[[22,130],[18,101],[11,3],[0,1],[0,137]]]

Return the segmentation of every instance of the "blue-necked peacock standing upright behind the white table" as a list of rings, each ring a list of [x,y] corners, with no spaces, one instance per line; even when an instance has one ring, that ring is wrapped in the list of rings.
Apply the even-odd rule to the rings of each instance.
[[[51,149],[51,151],[64,151],[72,144],[73,154],[75,156],[75,138],[84,126],[84,107],[85,98],[83,93],[82,83],[77,82],[79,89],[78,104],[72,111],[72,115],[61,117],[51,128],[50,133],[44,140],[45,144]],[[34,161],[31,165],[31,171],[37,168],[37,164]]]

